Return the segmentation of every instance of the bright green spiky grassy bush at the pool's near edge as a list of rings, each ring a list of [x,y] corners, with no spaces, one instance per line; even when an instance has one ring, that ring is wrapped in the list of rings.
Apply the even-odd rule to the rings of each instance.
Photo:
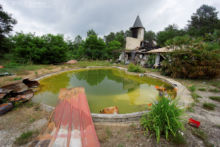
[[[152,110],[148,114],[142,116],[141,125],[146,133],[149,131],[155,133],[157,142],[159,142],[161,135],[165,135],[168,139],[184,129],[182,114],[183,110],[177,107],[176,101],[162,97],[157,104],[152,105]]]

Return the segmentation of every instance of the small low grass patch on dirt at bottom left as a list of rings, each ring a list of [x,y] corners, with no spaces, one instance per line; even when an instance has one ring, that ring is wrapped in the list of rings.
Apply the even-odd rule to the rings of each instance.
[[[14,144],[16,145],[24,145],[31,141],[32,138],[36,137],[38,131],[27,131],[22,133],[18,138],[16,138]]]

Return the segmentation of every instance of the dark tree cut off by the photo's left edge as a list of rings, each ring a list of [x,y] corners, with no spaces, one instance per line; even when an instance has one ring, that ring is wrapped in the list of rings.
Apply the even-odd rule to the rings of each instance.
[[[3,11],[2,5],[0,5],[0,56],[9,51],[10,42],[6,37],[15,24],[16,20]]]

